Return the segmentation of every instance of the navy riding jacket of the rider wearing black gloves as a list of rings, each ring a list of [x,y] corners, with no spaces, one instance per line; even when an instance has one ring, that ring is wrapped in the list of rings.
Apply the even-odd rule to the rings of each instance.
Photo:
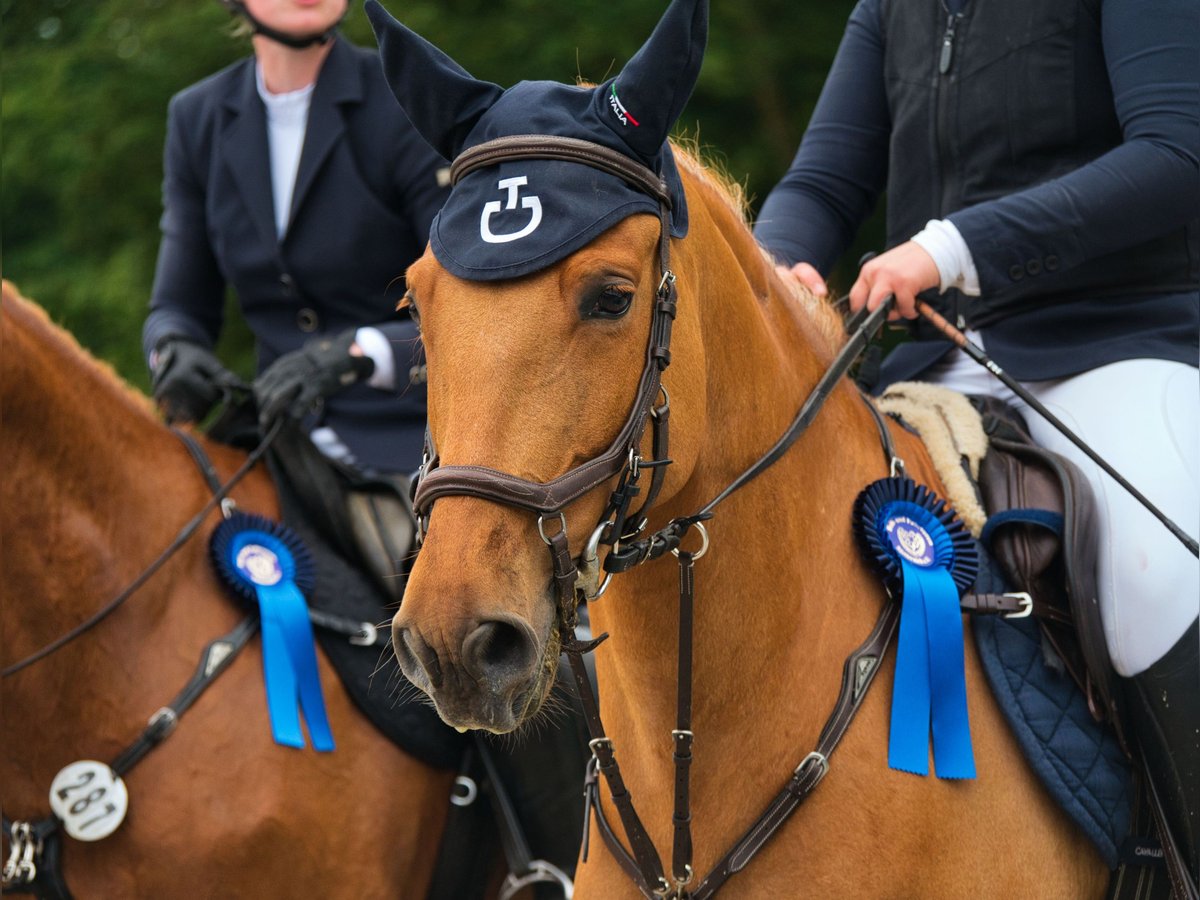
[[[307,425],[332,427],[365,467],[412,472],[421,460],[425,384],[409,379],[420,338],[396,302],[448,193],[445,164],[396,106],[378,55],[335,38],[278,238],[254,60],[181,91],[168,113],[146,355],[168,335],[212,347],[227,286],[254,334],[258,371],[313,335],[377,326],[395,350],[396,390],[355,384]]]

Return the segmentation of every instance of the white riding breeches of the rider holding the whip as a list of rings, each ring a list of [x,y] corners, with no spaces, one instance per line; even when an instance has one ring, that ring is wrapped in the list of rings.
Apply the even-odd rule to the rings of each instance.
[[[967,336],[982,343],[977,332]],[[1082,450],[965,353],[953,353],[925,380],[1010,403],[1034,442],[1079,466],[1098,508],[1097,588],[1112,664],[1130,677],[1157,662],[1200,612],[1200,560]],[[1135,359],[1022,385],[1195,539],[1200,532],[1196,368]]]

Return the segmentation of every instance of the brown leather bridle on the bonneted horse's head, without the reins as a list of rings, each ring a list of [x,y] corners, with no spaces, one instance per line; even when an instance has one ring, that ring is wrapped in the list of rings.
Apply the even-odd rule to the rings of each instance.
[[[413,505],[421,534],[428,522],[433,502],[439,497],[452,494],[478,497],[536,512],[538,530],[550,547],[553,560],[559,625],[571,629],[575,626],[578,601],[599,596],[601,592],[596,562],[599,545],[606,544],[616,548],[619,541],[632,539],[646,527],[643,512],[658,494],[666,464],[670,462],[666,458],[670,404],[666,402],[661,379],[662,371],[671,364],[671,326],[676,317],[676,277],[670,265],[671,193],[661,178],[624,154],[589,140],[545,134],[498,138],[470,148],[450,167],[450,182],[457,184],[476,169],[511,160],[559,160],[590,166],[616,175],[659,202],[661,278],[655,290],[642,377],[629,416],[612,444],[599,456],[580,463],[551,481],[530,481],[484,466],[439,466],[432,438],[426,431],[425,461],[418,474]],[[655,406],[660,395],[664,402],[661,406]],[[641,455],[642,437],[648,421],[653,422],[654,445],[654,458],[649,461],[643,460]],[[643,469],[650,469],[653,473],[650,487],[642,506],[631,516],[630,505],[641,492],[638,479]],[[580,566],[576,565],[569,550],[564,510],[618,474],[622,478],[581,560],[583,564],[581,575]],[[546,520],[556,517],[559,528],[553,534],[547,534]]]

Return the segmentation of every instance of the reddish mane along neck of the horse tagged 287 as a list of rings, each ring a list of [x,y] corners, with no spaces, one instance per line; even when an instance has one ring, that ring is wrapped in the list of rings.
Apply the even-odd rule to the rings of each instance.
[[[52,348],[58,356],[58,365],[62,367],[61,374],[66,377],[67,384],[80,385],[84,383],[98,383],[104,385],[107,394],[114,398],[120,398],[136,410],[139,415],[149,416],[157,421],[154,403],[142,391],[126,382],[116,370],[96,359],[84,348],[66,329],[55,324],[49,313],[32,300],[22,295],[17,287],[5,280],[2,283],[2,318],[5,322],[6,353],[4,354],[5,368],[16,366],[20,354],[13,352],[11,341],[13,338],[12,328],[19,329],[29,335],[29,340],[38,347]],[[28,360],[25,360],[28,365]],[[73,367],[74,371],[67,371]],[[6,374],[5,380],[10,378]],[[13,385],[19,380],[12,380]]]

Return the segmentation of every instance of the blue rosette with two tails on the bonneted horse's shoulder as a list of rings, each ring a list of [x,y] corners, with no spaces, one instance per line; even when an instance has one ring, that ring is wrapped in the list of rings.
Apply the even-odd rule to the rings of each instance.
[[[937,776],[974,778],[959,608],[979,571],[974,540],[944,500],[908,478],[868,485],[854,502],[854,532],[901,596],[888,766],[928,775],[932,732]]]

